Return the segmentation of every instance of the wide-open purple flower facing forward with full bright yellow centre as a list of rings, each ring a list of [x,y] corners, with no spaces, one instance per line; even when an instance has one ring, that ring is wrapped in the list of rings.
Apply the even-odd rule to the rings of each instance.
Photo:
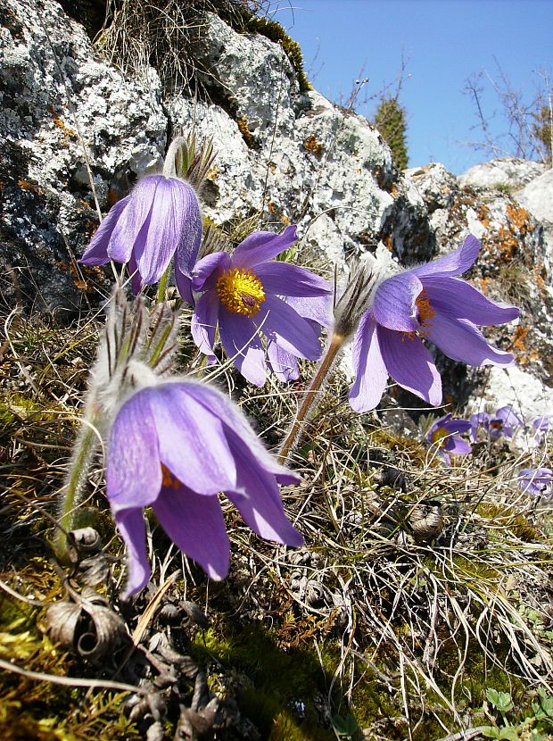
[[[256,386],[267,378],[267,359],[281,379],[297,378],[297,358],[317,360],[320,325],[331,288],[318,275],[273,258],[296,241],[296,228],[280,235],[260,231],[233,254],[215,252],[196,263],[192,288],[194,342],[214,357],[215,331],[236,368]],[[183,285],[184,283],[184,285]],[[186,281],[177,279],[189,300]],[[260,335],[266,338],[263,346]]]

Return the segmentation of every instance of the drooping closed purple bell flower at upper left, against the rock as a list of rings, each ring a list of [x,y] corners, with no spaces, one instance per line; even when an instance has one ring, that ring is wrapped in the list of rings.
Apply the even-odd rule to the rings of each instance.
[[[111,208],[79,262],[128,262],[136,296],[161,279],[173,255],[176,276],[189,276],[201,241],[194,188],[178,178],[149,175]]]

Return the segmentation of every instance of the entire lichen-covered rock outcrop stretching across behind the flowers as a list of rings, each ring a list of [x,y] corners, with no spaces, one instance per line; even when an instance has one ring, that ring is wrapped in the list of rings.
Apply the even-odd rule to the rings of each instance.
[[[502,158],[459,178],[439,163],[399,172],[363,117],[301,88],[282,44],[237,33],[217,15],[206,15],[187,50],[198,61],[198,93],[186,96],[165,90],[152,68],[125,77],[54,0],[4,6],[5,296],[20,291],[29,306],[58,311],[82,306],[87,290],[95,298],[107,273],[76,260],[98,224],[96,201],[107,212],[136,178],[159,169],[169,137],[195,122],[217,154],[200,194],[203,216],[276,231],[297,223],[302,262],[312,256],[341,269],[351,254],[379,246],[409,266],[467,232],[479,237],[468,278],[523,308],[516,326],[489,335],[516,354],[516,371],[488,377],[444,361],[446,391],[463,402],[494,389],[508,403],[520,390],[528,409],[551,412],[551,176],[543,165]]]

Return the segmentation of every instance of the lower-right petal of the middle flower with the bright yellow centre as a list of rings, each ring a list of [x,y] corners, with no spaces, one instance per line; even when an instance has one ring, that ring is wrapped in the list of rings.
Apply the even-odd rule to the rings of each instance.
[[[318,360],[321,346],[316,332],[292,306],[277,296],[267,296],[253,319],[269,339],[296,357]]]

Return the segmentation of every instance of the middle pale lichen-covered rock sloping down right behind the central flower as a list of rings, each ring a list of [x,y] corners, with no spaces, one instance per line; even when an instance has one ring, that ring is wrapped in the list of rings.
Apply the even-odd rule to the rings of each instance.
[[[210,14],[196,53],[215,104],[181,96],[169,111],[176,127],[195,121],[201,137],[213,137],[217,160],[202,194],[213,221],[256,213],[275,229],[293,221],[304,245],[337,262],[383,237],[397,254],[416,241],[420,249],[420,232],[401,217],[410,209],[411,221],[424,222],[425,206],[382,137],[361,116],[302,93],[282,46]]]

